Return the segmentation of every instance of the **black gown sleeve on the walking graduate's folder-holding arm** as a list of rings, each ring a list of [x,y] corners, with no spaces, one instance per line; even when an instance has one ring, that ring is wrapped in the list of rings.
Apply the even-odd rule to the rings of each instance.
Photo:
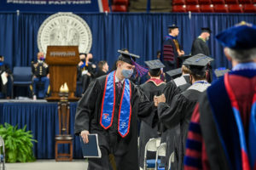
[[[101,86],[98,80],[91,82],[83,97],[79,100],[79,104],[75,116],[75,134],[83,130],[89,130],[90,119],[96,109],[96,98],[101,92]]]

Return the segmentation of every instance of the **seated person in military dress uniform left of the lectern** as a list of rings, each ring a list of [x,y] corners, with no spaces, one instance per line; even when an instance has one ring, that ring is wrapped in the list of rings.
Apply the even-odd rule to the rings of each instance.
[[[38,61],[32,61],[32,96],[37,99],[38,83],[44,84],[44,97],[49,95],[49,66],[44,62],[44,53],[38,52]],[[44,98],[43,97],[43,98]]]

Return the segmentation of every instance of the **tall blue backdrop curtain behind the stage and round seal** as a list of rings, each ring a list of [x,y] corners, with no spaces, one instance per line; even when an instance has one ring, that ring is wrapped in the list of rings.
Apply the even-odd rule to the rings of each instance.
[[[36,59],[38,29],[50,14],[0,12],[0,54],[5,56],[11,68],[30,65]],[[230,67],[215,35],[241,20],[256,24],[255,14],[79,13],[79,16],[92,31],[94,58],[107,60],[110,67],[119,56],[119,48],[128,48],[131,53],[140,55],[139,64],[154,59],[170,24],[180,27],[178,40],[186,54],[190,53],[193,40],[200,35],[201,26],[209,26],[212,37],[208,45],[215,59],[213,68]]]

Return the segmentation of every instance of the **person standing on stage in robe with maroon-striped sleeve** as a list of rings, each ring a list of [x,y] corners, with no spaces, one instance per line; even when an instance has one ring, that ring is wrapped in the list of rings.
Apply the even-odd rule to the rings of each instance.
[[[181,45],[177,42],[179,30],[175,25],[168,26],[168,35],[165,37],[162,48],[163,63],[166,65],[165,72],[178,67],[177,58],[184,54]],[[169,81],[170,77],[166,77]]]

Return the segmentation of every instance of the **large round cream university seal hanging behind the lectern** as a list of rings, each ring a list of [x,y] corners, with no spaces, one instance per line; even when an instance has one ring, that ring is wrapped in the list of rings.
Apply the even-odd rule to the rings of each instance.
[[[90,27],[78,15],[50,15],[38,31],[38,48],[46,54],[47,46],[79,46],[79,53],[89,53],[92,43]]]

